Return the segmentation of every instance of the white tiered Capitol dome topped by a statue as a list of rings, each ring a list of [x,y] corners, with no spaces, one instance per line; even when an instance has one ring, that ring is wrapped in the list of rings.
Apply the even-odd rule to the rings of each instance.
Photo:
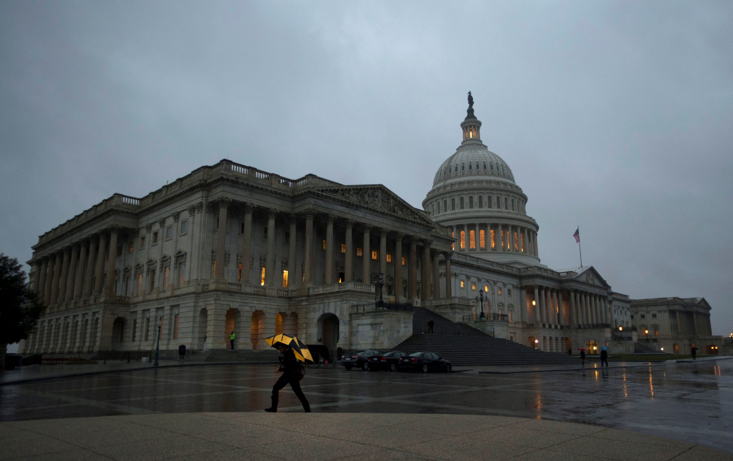
[[[468,110],[463,141],[441,163],[422,206],[433,221],[452,229],[454,251],[518,266],[537,265],[537,221],[527,215],[527,196],[512,169],[481,141],[481,122]]]

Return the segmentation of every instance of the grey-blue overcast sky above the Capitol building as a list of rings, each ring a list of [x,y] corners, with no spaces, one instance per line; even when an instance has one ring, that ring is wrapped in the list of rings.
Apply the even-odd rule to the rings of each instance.
[[[0,2],[0,251],[222,158],[421,206],[482,141],[550,268],[733,331],[733,2]]]

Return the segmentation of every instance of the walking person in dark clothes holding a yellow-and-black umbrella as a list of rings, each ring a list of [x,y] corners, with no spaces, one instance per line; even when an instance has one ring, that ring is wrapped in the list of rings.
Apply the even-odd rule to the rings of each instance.
[[[301,380],[306,375],[306,370],[303,368],[303,364],[305,364],[306,361],[313,361],[308,347],[306,347],[306,345],[298,338],[295,338],[295,336],[288,336],[286,334],[270,336],[269,338],[265,338],[265,342],[270,344],[271,347],[275,347],[282,354],[281,364],[277,370],[282,372],[282,376],[279,377],[275,386],[273,386],[272,406],[265,408],[265,411],[277,411],[280,389],[284,388],[287,384],[290,384],[292,391],[295,392],[295,396],[297,396],[303,404],[303,410],[305,410],[306,413],[310,413],[311,405],[308,403],[308,399],[306,399],[306,396],[301,390]]]

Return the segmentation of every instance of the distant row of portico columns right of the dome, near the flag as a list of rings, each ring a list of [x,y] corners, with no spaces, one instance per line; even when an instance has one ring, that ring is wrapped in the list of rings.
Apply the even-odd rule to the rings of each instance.
[[[527,309],[534,300],[535,324],[597,326],[611,325],[613,314],[608,296],[579,289],[559,289],[533,285],[529,293]],[[568,303],[564,303],[567,298]],[[567,314],[567,315],[566,315]]]

